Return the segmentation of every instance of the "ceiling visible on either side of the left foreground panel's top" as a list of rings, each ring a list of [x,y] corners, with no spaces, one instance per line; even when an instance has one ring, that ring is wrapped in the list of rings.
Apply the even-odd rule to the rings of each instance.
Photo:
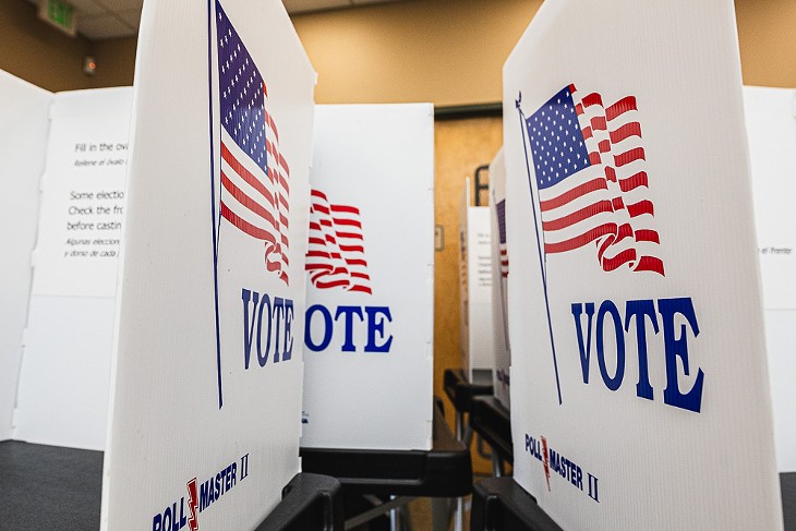
[[[282,0],[288,13],[352,8],[395,0]],[[38,4],[38,0],[28,0]],[[89,39],[129,37],[138,33],[144,0],[68,0],[76,13],[77,32]]]

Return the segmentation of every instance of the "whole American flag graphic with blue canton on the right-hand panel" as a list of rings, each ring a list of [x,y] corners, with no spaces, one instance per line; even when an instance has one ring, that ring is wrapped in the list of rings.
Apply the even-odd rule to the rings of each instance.
[[[593,242],[605,271],[664,275],[637,111],[569,85],[526,118],[545,255]]]

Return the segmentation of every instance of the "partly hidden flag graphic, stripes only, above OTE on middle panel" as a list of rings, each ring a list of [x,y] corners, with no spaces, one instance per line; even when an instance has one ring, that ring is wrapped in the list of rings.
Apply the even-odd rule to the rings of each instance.
[[[319,190],[310,202],[306,270],[316,288],[372,293],[359,208],[331,204]]]

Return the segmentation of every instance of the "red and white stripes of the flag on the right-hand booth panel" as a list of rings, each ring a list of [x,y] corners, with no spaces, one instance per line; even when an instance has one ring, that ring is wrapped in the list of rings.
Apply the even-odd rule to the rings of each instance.
[[[581,97],[574,85],[570,90],[591,166],[569,177],[564,193],[540,190],[545,253],[595,242],[606,271],[627,264],[663,275],[636,98],[605,107],[600,94]]]

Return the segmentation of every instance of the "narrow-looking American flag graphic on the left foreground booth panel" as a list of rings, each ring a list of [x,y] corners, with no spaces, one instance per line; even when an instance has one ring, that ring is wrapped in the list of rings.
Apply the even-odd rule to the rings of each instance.
[[[220,216],[265,244],[265,267],[288,279],[290,168],[268,113],[268,90],[246,47],[216,2],[221,121]]]

